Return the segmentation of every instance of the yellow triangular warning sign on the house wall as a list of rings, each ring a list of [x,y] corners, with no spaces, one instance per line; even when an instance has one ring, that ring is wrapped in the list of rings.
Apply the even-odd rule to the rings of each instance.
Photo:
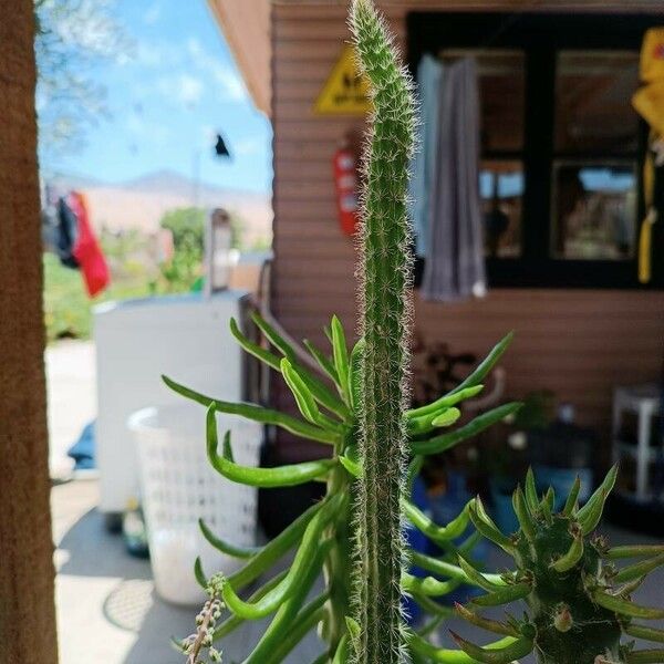
[[[357,71],[353,48],[346,44],[313,111],[317,115],[364,115],[370,110],[369,82]]]

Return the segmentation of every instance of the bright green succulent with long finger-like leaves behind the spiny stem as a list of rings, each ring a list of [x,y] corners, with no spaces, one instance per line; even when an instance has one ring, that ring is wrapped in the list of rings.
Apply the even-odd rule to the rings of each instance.
[[[237,547],[217,537],[204,521],[200,522],[203,535],[215,548],[247,562],[227,578],[208,578],[200,561],[196,561],[197,579],[204,588],[209,589],[210,602],[215,602],[214,609],[218,613],[219,602],[222,602],[231,615],[217,624],[217,619],[207,619],[204,610],[198,622],[207,630],[207,636],[193,634],[178,645],[190,654],[193,646],[199,650],[209,647],[247,620],[273,615],[272,623],[262,639],[245,660],[247,664],[282,662],[304,635],[317,626],[328,647],[320,662],[345,663],[353,656],[353,650],[350,649],[351,636],[361,634],[362,631],[361,623],[352,613],[353,593],[356,591],[353,589],[351,570],[354,564],[353,544],[360,537],[357,531],[362,529],[354,505],[360,500],[359,485],[363,468],[367,463],[371,464],[366,458],[362,458],[357,445],[361,426],[360,356],[365,344],[359,341],[350,349],[343,326],[334,317],[325,330],[332,346],[331,354],[322,352],[308,341],[303,344],[319,365],[320,371],[314,373],[274,328],[258,314],[253,314],[252,319],[269,340],[270,349],[250,341],[235,321],[230,323],[231,332],[245,351],[281,374],[293,395],[300,417],[256,404],[216,400],[166,376],[164,381],[183,396],[207,407],[207,453],[210,464],[220,475],[231,481],[261,488],[297,486],[314,480],[325,483],[326,491],[321,501],[311,506],[273,540],[259,548]],[[407,409],[401,414],[412,459],[408,467],[411,479],[425,455],[450,449],[519,407],[518,403],[504,404],[463,426],[446,429],[459,418],[458,406],[481,391],[481,381],[507,350],[510,341],[511,335],[508,335],[498,343],[464,383],[449,394],[427,406]],[[229,434],[219,442],[216,413],[241,415],[255,422],[278,426],[312,442],[324,443],[330,446],[331,456],[277,468],[238,465],[234,460]],[[400,566],[400,604],[402,592],[407,592],[425,611],[433,611],[438,618],[447,615],[449,610],[438,605],[433,598],[447,594],[460,583],[475,584],[456,563],[456,558],[459,554],[471,553],[477,543],[477,535],[470,533],[458,547],[454,543],[471,529],[469,505],[450,523],[440,527],[402,491],[398,515],[401,519],[405,517],[413,527],[445,551],[439,559],[417,552],[406,551],[405,554],[409,553],[418,566],[424,562],[424,566],[434,566],[434,571],[450,575],[450,581],[442,583],[433,577],[413,577]],[[367,533],[361,537],[366,543],[373,536]],[[401,532],[398,543],[402,544]],[[297,552],[291,567],[286,572],[272,572],[272,568],[293,549]],[[325,579],[325,590],[318,598],[307,602],[321,571]],[[271,578],[270,572],[273,574]],[[240,593],[259,579],[263,581],[263,585],[248,599],[241,599]],[[396,624],[400,631],[403,631],[402,623],[400,613]]]

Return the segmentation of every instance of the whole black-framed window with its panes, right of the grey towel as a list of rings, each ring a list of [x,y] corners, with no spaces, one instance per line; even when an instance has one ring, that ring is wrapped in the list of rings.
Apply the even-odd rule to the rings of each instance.
[[[476,59],[490,283],[642,288],[647,128],[631,97],[641,40],[657,19],[413,12],[407,21],[412,71],[424,53]],[[662,288],[664,261],[655,263],[650,287]]]

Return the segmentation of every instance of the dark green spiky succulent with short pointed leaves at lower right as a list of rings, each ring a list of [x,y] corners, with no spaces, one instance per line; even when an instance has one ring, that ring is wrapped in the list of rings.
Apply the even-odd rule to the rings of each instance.
[[[664,564],[664,547],[609,548],[596,535],[604,502],[613,488],[616,467],[583,507],[579,507],[580,481],[556,512],[553,489],[538,496],[532,471],[512,496],[520,529],[506,536],[487,515],[478,498],[470,507],[477,530],[509,553],[513,572],[500,582],[488,580],[471,563],[461,568],[487,591],[470,606],[457,605],[470,623],[504,636],[501,643],[479,647],[454,634],[459,647],[473,660],[508,664],[531,651],[541,664],[644,664],[664,662],[664,650],[634,650],[623,635],[664,642],[664,631],[635,621],[664,619],[664,610],[634,603],[631,594],[645,577]],[[640,558],[619,569],[616,560]],[[522,600],[528,611],[522,620],[498,622],[478,611]],[[434,661],[447,662],[438,658]],[[450,661],[450,660],[449,660]],[[455,660],[456,661],[456,660]]]

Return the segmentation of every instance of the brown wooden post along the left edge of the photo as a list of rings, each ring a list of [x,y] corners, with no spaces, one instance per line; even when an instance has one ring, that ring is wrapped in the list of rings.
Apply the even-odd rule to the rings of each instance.
[[[32,0],[0,21],[0,662],[58,662]]]

